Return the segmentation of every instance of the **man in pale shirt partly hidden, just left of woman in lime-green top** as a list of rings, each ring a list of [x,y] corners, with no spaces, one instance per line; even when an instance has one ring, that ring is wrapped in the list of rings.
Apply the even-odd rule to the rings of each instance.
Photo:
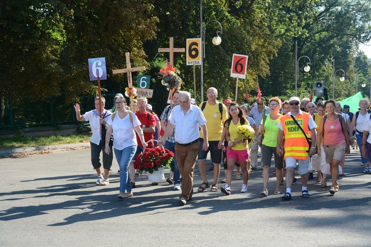
[[[265,101],[264,97],[261,97],[260,100],[257,100],[257,105],[254,106],[251,109],[251,118],[255,121],[256,128],[259,129],[259,125],[262,122],[263,119],[263,102]],[[269,114],[269,108],[265,107],[265,114]],[[258,139],[257,139],[258,132],[255,132],[255,139],[254,143],[251,146],[250,149],[250,163],[251,163],[251,169],[256,170],[258,166]],[[263,165],[262,165],[263,169]]]

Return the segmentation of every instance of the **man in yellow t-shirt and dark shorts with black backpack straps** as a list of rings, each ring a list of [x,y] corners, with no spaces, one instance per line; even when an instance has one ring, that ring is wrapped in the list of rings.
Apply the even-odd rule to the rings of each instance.
[[[211,191],[218,191],[218,179],[220,173],[220,165],[222,164],[222,153],[223,150],[219,149],[219,145],[223,145],[222,140],[223,124],[228,119],[227,107],[217,102],[218,90],[215,87],[207,89],[207,101],[200,104],[201,111],[207,121],[207,139],[209,141],[209,148],[202,150],[204,142],[204,135],[200,132],[200,149],[198,151],[198,168],[202,176],[203,183],[198,188],[198,192],[203,192],[206,188],[209,188],[209,182],[207,181],[206,175],[206,157],[210,151],[211,162],[214,165],[214,181],[211,186]]]

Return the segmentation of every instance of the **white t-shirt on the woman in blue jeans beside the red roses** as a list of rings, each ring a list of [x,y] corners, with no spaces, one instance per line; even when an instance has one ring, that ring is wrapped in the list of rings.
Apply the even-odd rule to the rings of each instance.
[[[130,121],[129,114],[133,116],[133,124]],[[112,126],[113,130],[113,146],[115,149],[123,150],[126,147],[137,145],[137,137],[134,133],[134,127],[140,125],[137,116],[134,113],[129,113],[125,118],[121,119],[116,113],[115,119],[112,118],[107,121],[108,125]]]

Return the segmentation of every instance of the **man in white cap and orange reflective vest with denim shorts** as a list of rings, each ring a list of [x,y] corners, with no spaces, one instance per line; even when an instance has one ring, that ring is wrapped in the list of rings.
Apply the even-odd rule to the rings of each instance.
[[[284,154],[283,159],[286,161],[286,193],[283,195],[282,200],[291,200],[291,185],[296,163],[299,164],[298,173],[301,175],[302,197],[309,198],[307,189],[309,156],[317,153],[317,125],[309,113],[300,110],[300,99],[298,97],[291,97],[288,103],[290,104],[290,112],[280,118],[280,123],[278,124],[280,130],[278,132],[276,150],[279,156]],[[301,129],[303,129],[305,134]],[[307,141],[309,132],[312,137],[311,146],[309,146]],[[281,144],[283,137],[285,138],[284,147]]]

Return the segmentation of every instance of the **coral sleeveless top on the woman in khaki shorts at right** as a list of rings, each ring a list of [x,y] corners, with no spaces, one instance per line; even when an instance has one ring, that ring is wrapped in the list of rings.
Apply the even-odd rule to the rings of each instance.
[[[345,144],[345,136],[341,130],[339,118],[331,121],[327,116],[324,126],[324,145],[337,146],[342,144]]]

